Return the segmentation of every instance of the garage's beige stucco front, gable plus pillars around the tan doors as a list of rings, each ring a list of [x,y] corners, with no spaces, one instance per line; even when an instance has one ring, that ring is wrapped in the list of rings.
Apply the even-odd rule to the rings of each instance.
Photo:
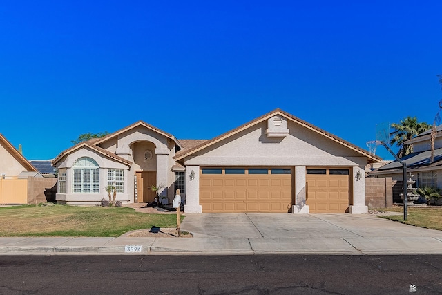
[[[289,121],[289,134],[282,138],[266,135],[267,122],[250,126],[235,135],[184,159],[187,195],[184,211],[197,212],[199,187],[189,184],[189,167],[195,173],[200,166],[285,166],[295,167],[294,213],[309,213],[305,205],[305,171],[309,167],[345,167],[350,169],[350,212],[367,213],[365,206],[365,165],[367,158],[324,135]],[[361,177],[356,180],[356,173]],[[359,176],[359,175],[358,175]]]

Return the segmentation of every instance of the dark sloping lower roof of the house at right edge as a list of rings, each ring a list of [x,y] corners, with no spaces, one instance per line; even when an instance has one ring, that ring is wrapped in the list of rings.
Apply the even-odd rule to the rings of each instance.
[[[442,165],[442,148],[434,150],[434,161],[430,162],[431,151],[422,151],[419,153],[410,153],[401,158],[401,161],[407,164],[407,169],[432,168]],[[370,172],[370,175],[402,172],[402,164],[394,160],[389,164]]]

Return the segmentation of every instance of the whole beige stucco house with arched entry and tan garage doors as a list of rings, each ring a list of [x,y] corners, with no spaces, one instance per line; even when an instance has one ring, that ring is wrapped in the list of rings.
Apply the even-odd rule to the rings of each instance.
[[[57,201],[151,202],[151,185],[184,211],[367,213],[365,166],[381,159],[280,109],[212,140],[177,140],[145,122],[81,142],[52,164]]]

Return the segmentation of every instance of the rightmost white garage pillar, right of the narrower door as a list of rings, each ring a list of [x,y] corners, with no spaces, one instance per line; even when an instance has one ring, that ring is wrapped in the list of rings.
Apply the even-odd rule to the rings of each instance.
[[[365,167],[354,166],[352,171],[350,182],[353,182],[353,204],[350,205],[350,213],[366,214],[368,207],[365,206]]]

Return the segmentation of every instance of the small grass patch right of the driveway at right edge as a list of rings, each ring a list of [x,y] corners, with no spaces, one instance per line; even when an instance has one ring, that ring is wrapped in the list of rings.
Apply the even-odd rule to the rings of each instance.
[[[378,209],[380,211],[403,212],[403,207]],[[407,220],[403,220],[403,214],[398,216],[379,216],[390,220],[425,227],[427,229],[437,229],[442,231],[442,207],[408,207]]]

